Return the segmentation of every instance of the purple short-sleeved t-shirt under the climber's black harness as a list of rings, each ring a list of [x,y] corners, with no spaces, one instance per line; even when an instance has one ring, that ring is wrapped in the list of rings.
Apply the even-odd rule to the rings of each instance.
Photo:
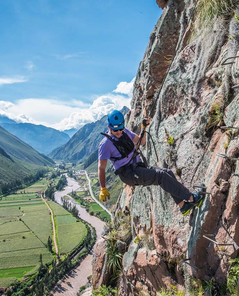
[[[136,136],[136,133],[133,133],[132,131],[128,130],[128,128],[124,128],[123,132],[127,133],[127,135],[130,137],[132,141]],[[116,141],[119,140],[112,135],[109,135],[109,136],[111,136]],[[100,145],[99,145],[99,159],[109,159],[110,162],[113,164],[113,167],[115,170],[118,170],[118,168],[122,167],[123,165],[126,165],[131,159],[133,154],[134,154],[134,151],[130,152],[128,157],[124,157],[121,160],[110,159],[110,157],[121,157],[121,154],[119,153],[118,149],[114,146],[113,142],[110,141],[108,138],[104,137],[104,139],[100,142]],[[136,160],[137,160],[137,163],[140,161],[139,155],[137,155]],[[130,163],[133,163],[133,160]]]

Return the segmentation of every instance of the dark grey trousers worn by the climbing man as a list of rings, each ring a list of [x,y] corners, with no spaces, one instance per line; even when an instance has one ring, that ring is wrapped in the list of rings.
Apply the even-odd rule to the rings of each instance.
[[[134,175],[136,175],[136,177]],[[144,168],[143,163],[137,163],[134,172],[133,165],[128,165],[119,173],[119,177],[122,182],[130,186],[159,185],[163,190],[171,194],[177,205],[183,200],[188,201],[192,195],[183,184],[178,182],[174,173],[167,168],[158,168],[152,165],[149,165],[148,168]]]

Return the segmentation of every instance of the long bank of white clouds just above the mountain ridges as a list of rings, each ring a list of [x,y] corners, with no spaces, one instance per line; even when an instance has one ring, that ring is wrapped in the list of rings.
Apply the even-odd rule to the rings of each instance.
[[[70,128],[81,128],[86,123],[99,120],[112,110],[121,110],[123,106],[130,108],[134,79],[124,87],[103,96],[98,96],[92,104],[80,100],[59,101],[57,99],[29,98],[12,104],[0,101],[0,114],[19,122],[43,124],[64,131]],[[125,84],[126,83],[126,84]],[[1,106],[3,106],[1,108]]]

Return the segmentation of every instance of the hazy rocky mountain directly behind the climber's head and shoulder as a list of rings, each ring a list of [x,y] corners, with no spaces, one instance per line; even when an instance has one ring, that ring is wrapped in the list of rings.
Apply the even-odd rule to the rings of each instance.
[[[121,112],[128,112],[127,107],[123,107]],[[85,160],[95,150],[103,139],[100,133],[107,130],[107,115],[96,122],[87,123],[63,146],[54,149],[49,156],[56,160]]]

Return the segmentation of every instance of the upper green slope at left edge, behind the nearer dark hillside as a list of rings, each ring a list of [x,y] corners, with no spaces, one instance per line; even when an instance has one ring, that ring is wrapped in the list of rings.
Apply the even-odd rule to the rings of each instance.
[[[12,135],[0,126],[0,147],[10,156],[35,165],[52,165],[49,157],[40,154],[30,145]],[[3,155],[2,155],[3,156]],[[4,156],[3,156],[4,157]],[[11,160],[10,160],[11,161]],[[1,166],[2,169],[2,166]]]

